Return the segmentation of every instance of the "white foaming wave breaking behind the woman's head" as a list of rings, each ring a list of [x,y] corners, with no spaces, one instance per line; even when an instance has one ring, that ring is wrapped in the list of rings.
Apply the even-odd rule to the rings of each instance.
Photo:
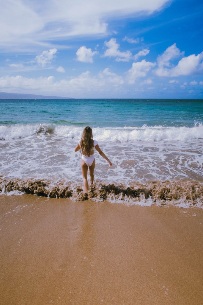
[[[55,136],[79,139],[83,127],[58,124],[13,124],[0,125],[0,139],[23,138],[38,133],[52,133]],[[187,141],[202,138],[202,123],[193,127],[95,127],[94,138],[98,141],[126,142],[126,141]]]

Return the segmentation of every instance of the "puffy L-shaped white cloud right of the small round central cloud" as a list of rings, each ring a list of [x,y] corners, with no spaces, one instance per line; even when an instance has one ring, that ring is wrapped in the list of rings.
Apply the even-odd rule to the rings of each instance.
[[[129,61],[132,54],[130,51],[121,52],[119,51],[119,44],[116,42],[116,38],[111,38],[109,41],[105,41],[104,44],[107,46],[107,50],[104,52],[104,57],[116,57],[116,61]]]

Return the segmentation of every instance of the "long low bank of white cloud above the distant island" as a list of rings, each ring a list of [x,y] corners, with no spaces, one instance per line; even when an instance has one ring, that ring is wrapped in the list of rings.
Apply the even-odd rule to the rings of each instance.
[[[72,77],[55,81],[54,76],[29,78],[18,76],[0,77],[0,88],[10,92],[29,92],[39,94],[53,94],[65,96],[81,96],[89,92],[97,94],[120,90],[124,83],[122,77],[110,72],[108,68],[96,76],[91,76],[89,71]]]

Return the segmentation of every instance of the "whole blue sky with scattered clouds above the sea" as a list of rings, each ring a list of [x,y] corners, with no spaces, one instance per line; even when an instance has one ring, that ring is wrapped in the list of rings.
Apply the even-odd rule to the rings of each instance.
[[[203,98],[203,2],[7,0],[0,91]]]

